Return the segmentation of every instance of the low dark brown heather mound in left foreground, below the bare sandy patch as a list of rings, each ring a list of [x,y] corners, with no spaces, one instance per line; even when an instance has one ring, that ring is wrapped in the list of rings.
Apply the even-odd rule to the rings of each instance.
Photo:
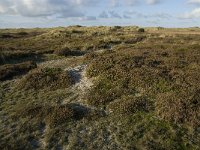
[[[19,117],[29,117],[44,121],[51,127],[59,126],[72,120],[82,119],[86,114],[82,106],[75,107],[73,104],[65,105],[31,105],[18,110]]]

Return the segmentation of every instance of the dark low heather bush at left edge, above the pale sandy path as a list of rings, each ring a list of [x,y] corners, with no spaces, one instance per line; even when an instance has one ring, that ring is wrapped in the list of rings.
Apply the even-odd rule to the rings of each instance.
[[[9,64],[0,66],[0,81],[12,79],[13,77],[22,75],[36,67],[36,63],[31,61],[14,65]]]

